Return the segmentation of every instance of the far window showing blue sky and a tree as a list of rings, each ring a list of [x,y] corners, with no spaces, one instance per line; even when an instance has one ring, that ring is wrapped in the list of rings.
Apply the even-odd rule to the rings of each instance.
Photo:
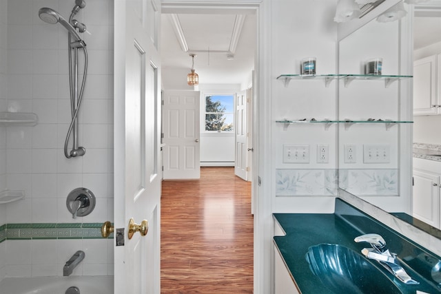
[[[232,132],[234,95],[205,96],[205,131]]]

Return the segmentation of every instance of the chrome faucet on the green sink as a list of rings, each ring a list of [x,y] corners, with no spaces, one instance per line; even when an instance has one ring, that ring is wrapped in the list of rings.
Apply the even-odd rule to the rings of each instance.
[[[408,273],[398,264],[396,259],[396,254],[389,252],[389,249],[386,246],[386,242],[382,238],[382,236],[378,234],[366,234],[360,235],[354,239],[355,242],[367,242],[371,244],[372,248],[364,248],[361,253],[365,255],[365,257],[376,260],[380,262],[380,264],[395,275],[398,280],[408,285],[416,285],[420,284],[416,280],[413,280]]]

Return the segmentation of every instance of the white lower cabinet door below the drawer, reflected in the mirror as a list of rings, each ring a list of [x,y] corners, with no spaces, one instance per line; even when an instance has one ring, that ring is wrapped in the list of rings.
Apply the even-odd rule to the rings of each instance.
[[[440,229],[440,175],[413,170],[413,217]]]

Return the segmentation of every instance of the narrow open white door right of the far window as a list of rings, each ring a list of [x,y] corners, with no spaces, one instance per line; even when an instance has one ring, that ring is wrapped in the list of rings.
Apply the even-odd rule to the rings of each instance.
[[[236,144],[234,159],[234,174],[248,180],[248,129],[247,129],[247,92],[236,94]]]

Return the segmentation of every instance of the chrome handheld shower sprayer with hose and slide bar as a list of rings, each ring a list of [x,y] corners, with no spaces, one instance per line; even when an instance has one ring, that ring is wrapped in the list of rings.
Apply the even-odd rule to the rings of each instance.
[[[68,48],[69,48],[69,87],[70,87],[70,106],[72,120],[69,125],[68,134],[66,135],[64,143],[64,155],[66,158],[83,156],[85,148],[78,145],[78,113],[83,99],[83,91],[86,76],[88,74],[88,51],[85,48],[85,43],[79,32],[85,32],[86,27],[84,23],[80,23],[74,16],[85,8],[84,0],[75,0],[75,6],[72,9],[69,20],[66,21],[59,12],[52,8],[41,8],[39,10],[39,17],[45,23],[55,24],[60,23],[68,30]],[[83,78],[79,83],[79,50],[84,53],[84,70]],[[68,151],[68,144],[72,134],[72,149]]]

